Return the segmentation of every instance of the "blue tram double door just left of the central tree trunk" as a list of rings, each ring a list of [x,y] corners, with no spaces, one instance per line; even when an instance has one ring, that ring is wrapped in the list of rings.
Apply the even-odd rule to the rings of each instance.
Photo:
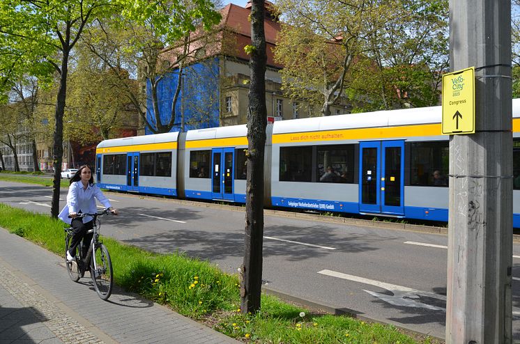
[[[235,200],[234,148],[213,148],[211,196],[213,199]]]

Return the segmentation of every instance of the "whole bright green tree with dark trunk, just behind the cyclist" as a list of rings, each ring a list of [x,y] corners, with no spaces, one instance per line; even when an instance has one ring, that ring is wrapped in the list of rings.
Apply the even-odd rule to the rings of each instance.
[[[72,49],[87,25],[96,18],[111,15],[116,7],[109,0],[27,1],[0,2],[0,46],[20,58],[24,69],[28,64],[38,70],[13,72],[14,77],[32,72],[49,77],[59,75],[59,90],[54,112],[54,182],[52,189],[52,217],[59,213],[61,162],[63,159],[63,114],[65,113],[68,68]],[[6,48],[7,47],[7,48]],[[1,58],[1,70],[9,70],[6,58]],[[7,83],[9,81],[6,81]]]

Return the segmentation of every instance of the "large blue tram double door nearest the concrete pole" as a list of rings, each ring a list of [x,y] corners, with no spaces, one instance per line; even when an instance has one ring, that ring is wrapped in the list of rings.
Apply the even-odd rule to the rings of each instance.
[[[404,141],[360,143],[360,212],[404,215]]]

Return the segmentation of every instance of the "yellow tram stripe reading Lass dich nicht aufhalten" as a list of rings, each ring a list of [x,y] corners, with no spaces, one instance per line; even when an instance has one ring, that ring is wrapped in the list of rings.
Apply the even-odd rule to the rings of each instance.
[[[393,139],[409,136],[441,135],[441,124],[406,125],[401,127],[375,127],[344,130],[325,130],[321,132],[294,132],[273,135],[273,143]]]

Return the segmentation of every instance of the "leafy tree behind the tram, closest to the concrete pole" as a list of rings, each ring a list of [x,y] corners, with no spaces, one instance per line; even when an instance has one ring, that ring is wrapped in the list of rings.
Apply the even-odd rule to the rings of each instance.
[[[365,62],[354,68],[350,98],[368,97],[362,111],[431,107],[439,103],[448,69],[448,0],[399,0],[367,37]],[[367,70],[371,77],[367,82]]]

